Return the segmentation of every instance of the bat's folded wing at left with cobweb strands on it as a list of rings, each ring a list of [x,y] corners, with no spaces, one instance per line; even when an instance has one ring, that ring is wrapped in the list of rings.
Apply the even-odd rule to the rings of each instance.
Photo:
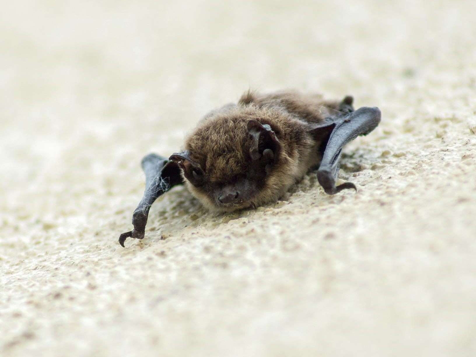
[[[139,205],[132,214],[134,229],[122,233],[119,237],[119,243],[122,247],[124,247],[124,242],[129,237],[144,238],[152,203],[170,188],[183,183],[178,164],[157,154],[145,156],[141,161],[141,166],[146,174],[146,189]]]

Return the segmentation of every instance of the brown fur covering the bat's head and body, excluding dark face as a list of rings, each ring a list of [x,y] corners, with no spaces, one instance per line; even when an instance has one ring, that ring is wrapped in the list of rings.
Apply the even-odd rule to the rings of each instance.
[[[185,182],[189,190],[206,207],[235,210],[276,201],[320,160],[320,142],[306,129],[338,111],[339,101],[325,101],[321,95],[279,92],[260,95],[248,91],[237,105],[226,105],[205,116],[186,139],[191,159],[204,171],[206,185],[196,187]],[[226,185],[250,167],[249,120],[268,124],[281,143],[278,162],[272,166],[259,192],[241,205],[220,207],[211,191]]]

